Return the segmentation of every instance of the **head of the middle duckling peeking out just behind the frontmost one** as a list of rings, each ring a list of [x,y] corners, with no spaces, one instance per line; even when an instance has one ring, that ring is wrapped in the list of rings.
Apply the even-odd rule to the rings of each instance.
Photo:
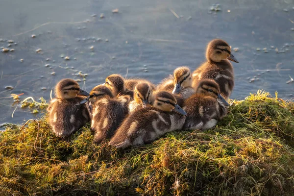
[[[134,88],[134,100],[146,107],[152,101],[151,86],[146,82],[138,83]]]

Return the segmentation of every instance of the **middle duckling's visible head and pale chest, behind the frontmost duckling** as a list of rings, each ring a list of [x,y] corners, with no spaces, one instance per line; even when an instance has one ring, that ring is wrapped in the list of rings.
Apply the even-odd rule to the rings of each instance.
[[[153,101],[153,88],[149,82],[140,82],[134,88],[134,100],[129,103],[129,113],[145,108]]]

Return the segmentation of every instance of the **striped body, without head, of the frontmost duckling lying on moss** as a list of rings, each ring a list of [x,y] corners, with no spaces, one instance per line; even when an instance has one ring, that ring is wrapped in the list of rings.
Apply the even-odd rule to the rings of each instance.
[[[185,116],[175,112],[141,108],[123,121],[109,144],[117,148],[148,144],[166,132],[181,129],[184,123]]]

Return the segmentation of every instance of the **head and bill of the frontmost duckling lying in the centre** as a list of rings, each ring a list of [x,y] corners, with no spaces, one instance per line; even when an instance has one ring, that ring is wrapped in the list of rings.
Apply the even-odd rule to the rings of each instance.
[[[153,106],[165,112],[174,111],[180,115],[187,115],[185,110],[177,104],[173,95],[166,91],[160,91],[155,95]]]

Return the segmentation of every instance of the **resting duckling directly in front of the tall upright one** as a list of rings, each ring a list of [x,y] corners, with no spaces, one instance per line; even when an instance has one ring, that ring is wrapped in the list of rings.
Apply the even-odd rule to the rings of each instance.
[[[209,129],[216,125],[227,112],[228,102],[220,95],[219,84],[211,79],[201,80],[196,94],[185,100],[187,112],[185,130]]]

